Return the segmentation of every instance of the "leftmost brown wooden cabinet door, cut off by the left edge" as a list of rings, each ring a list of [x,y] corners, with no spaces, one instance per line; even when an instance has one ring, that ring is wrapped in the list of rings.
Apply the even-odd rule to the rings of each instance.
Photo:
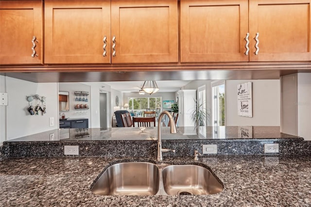
[[[0,1],[0,65],[43,63],[42,16],[41,0]]]

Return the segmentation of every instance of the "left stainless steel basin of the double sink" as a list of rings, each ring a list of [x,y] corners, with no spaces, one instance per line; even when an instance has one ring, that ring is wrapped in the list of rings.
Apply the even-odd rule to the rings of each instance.
[[[99,195],[155,195],[158,167],[149,162],[122,162],[109,166],[92,187]]]

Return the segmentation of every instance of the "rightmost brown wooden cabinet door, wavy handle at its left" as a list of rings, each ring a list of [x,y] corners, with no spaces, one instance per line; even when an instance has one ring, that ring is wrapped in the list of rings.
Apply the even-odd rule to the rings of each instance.
[[[250,61],[311,60],[311,0],[251,0]],[[258,54],[255,54],[259,33]]]

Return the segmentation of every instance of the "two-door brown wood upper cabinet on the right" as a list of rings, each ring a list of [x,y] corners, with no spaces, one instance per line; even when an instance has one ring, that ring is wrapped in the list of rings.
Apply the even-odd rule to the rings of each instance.
[[[310,2],[180,0],[181,63],[309,61]]]

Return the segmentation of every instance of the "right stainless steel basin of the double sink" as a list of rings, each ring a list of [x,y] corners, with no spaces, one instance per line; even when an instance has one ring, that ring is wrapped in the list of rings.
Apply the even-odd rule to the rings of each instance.
[[[167,166],[162,176],[164,190],[169,195],[207,195],[224,189],[212,173],[197,165]]]

